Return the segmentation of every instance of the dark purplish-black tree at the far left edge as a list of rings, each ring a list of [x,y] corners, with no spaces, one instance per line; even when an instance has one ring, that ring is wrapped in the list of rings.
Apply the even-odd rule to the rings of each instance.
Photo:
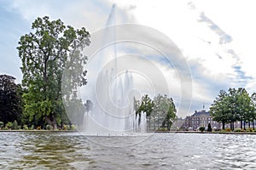
[[[21,88],[15,77],[0,75],[0,121],[20,122],[22,115]]]

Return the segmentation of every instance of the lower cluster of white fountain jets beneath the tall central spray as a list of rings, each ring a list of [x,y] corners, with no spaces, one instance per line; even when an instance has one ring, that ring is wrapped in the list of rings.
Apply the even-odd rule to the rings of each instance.
[[[112,69],[114,71],[114,69]],[[143,133],[146,132],[146,113],[136,115],[133,97],[125,97],[131,91],[132,75],[125,71],[122,77],[111,77],[108,71],[100,74],[96,86],[96,96],[91,110],[84,112],[86,133]],[[130,94],[132,96],[132,92]]]

